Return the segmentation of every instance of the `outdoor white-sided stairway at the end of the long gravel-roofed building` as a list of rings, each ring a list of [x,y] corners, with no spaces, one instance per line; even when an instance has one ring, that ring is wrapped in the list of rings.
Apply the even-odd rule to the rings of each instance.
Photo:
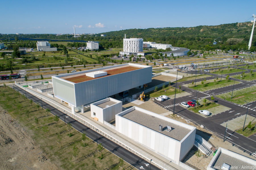
[[[210,145],[205,139],[203,139],[201,136],[196,135],[195,137],[195,143],[194,146],[196,146],[203,154],[206,154],[209,156],[212,153],[212,145]]]

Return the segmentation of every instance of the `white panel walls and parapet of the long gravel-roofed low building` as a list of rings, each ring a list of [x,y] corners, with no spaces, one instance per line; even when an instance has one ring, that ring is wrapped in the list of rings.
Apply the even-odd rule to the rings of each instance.
[[[189,133],[187,135],[187,139],[183,139],[183,143],[122,117],[122,115],[134,109],[145,112],[146,114],[150,114],[158,118],[164,118],[165,120],[168,119],[168,121],[172,123],[176,123],[185,128],[191,129],[192,133]],[[115,115],[115,127],[116,130],[122,133],[123,135],[128,136],[134,141],[141,143],[142,145],[150,148],[154,152],[166,157],[167,159],[177,164],[179,163],[181,158],[184,157],[184,154],[187,154],[189,152],[195,141],[195,127],[183,124],[176,120],[166,118],[164,116],[158,115],[150,111],[146,111],[138,107],[132,107],[130,109],[127,109],[126,111],[123,111]]]

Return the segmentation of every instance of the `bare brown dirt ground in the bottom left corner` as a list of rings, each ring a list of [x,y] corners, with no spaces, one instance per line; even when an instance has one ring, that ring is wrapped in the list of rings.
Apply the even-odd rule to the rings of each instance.
[[[58,169],[27,131],[0,107],[0,169]]]

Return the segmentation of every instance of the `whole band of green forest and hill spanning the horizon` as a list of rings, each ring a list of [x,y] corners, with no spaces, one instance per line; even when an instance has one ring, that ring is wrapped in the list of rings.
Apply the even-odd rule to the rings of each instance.
[[[84,41],[100,41],[103,48],[122,48],[123,38],[143,38],[143,41],[153,41],[156,43],[172,44],[172,46],[185,47],[198,50],[247,50],[253,23],[233,23],[214,26],[200,25],[197,27],[175,27],[175,28],[148,28],[148,29],[126,29],[121,31],[110,31],[95,35],[72,35],[53,34],[30,34],[30,35],[1,35],[0,39],[23,36],[24,38],[44,38],[44,39],[69,39]],[[255,30],[254,30],[255,32]],[[106,37],[100,37],[106,34]],[[213,45],[216,39],[217,44]],[[256,51],[256,33],[253,35],[251,51]]]

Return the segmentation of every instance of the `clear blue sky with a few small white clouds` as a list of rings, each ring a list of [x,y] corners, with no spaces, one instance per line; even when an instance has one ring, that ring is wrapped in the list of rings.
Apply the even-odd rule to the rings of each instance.
[[[251,21],[255,1],[1,2],[0,33],[102,33],[130,28],[193,27]]]

